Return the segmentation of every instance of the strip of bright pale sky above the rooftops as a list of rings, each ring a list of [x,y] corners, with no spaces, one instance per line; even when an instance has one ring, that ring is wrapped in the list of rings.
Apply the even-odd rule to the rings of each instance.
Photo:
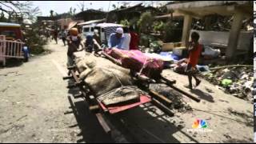
[[[113,4],[116,6],[122,4],[122,2],[130,2],[133,6],[135,4],[140,3],[141,1],[83,1],[85,3],[85,9],[103,9],[107,11],[110,5],[110,10],[113,10]],[[70,7],[76,8],[76,13],[80,12],[78,8],[78,4],[82,3],[82,1],[33,1],[34,6],[38,6],[42,12],[42,16],[49,16],[50,10],[54,10],[54,13],[57,12],[58,14],[62,14],[68,12]],[[91,3],[91,5],[90,5]]]

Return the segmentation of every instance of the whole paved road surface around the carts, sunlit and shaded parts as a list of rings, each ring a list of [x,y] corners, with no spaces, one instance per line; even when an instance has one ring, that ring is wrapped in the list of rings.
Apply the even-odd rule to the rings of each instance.
[[[0,68],[0,142],[120,142],[120,134],[110,138],[104,133],[82,99],[71,98],[74,107],[70,104],[68,96],[78,91],[66,89],[68,82],[62,80],[66,47],[59,42],[46,48],[52,53]],[[186,90],[186,76],[170,70],[163,74],[178,79],[176,85]],[[224,94],[205,81],[198,90],[186,91],[202,99],[198,103],[182,97],[193,111],[176,110],[170,118],[155,106],[144,105],[111,116],[110,122],[132,142],[253,141],[251,103]],[[212,131],[189,131],[196,118],[205,119]],[[125,127],[129,129],[122,129]]]

